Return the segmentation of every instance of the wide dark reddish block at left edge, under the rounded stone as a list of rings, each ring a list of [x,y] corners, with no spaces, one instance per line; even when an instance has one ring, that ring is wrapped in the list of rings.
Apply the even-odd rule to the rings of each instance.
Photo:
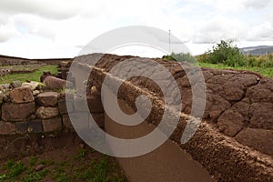
[[[2,106],[2,119],[5,121],[23,121],[35,113],[35,102],[25,104],[5,103]]]

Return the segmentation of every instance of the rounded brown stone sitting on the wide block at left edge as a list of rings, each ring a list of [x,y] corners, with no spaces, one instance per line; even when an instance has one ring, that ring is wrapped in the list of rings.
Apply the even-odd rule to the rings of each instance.
[[[34,101],[34,96],[29,87],[18,87],[9,93],[9,97],[13,103],[29,103]]]

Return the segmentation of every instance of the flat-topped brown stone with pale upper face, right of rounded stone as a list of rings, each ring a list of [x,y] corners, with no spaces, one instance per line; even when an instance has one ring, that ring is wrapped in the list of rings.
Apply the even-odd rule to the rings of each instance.
[[[58,102],[58,93],[44,92],[36,97],[36,102],[41,106],[56,106]]]

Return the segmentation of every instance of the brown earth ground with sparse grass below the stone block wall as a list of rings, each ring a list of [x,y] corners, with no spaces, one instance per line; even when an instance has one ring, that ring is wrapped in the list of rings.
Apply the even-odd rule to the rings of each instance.
[[[74,132],[0,136],[0,181],[127,181],[116,159]]]

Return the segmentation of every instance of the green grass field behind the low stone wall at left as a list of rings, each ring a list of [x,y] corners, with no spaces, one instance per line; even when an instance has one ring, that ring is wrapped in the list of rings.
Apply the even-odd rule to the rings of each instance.
[[[9,84],[15,80],[20,80],[21,82],[25,82],[25,80],[39,82],[40,76],[43,75],[43,71],[50,71],[52,74],[56,74],[57,67],[56,66],[41,66],[41,67],[39,67],[39,70],[35,71],[34,73],[12,74],[12,75],[8,75],[8,76],[1,76],[0,77],[0,84]]]

